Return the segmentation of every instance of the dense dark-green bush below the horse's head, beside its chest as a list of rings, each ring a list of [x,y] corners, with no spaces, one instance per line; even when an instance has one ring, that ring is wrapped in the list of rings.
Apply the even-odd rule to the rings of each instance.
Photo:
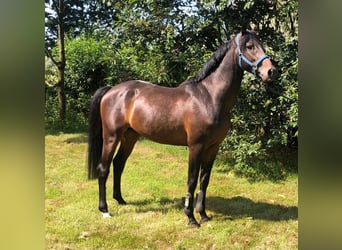
[[[219,156],[235,173],[251,180],[281,180],[297,171],[297,62],[279,65],[283,72],[270,86],[245,76]]]

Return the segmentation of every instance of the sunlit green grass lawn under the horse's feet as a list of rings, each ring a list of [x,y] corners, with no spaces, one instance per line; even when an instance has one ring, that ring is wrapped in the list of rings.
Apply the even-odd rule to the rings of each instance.
[[[207,193],[212,220],[187,226],[187,149],[139,141],[122,176],[123,197],[97,211],[96,181],[86,179],[85,134],[47,135],[45,225],[47,249],[297,249],[298,178],[251,183],[215,165]],[[198,215],[196,214],[197,218]]]

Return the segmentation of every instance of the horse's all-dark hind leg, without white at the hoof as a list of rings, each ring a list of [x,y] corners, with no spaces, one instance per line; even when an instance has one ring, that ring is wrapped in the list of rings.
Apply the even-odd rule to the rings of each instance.
[[[128,129],[121,139],[119,150],[113,160],[113,198],[117,200],[120,205],[126,205],[126,201],[122,198],[121,194],[121,175],[125,168],[126,161],[132,153],[134,145],[139,137],[139,134],[135,131]]]

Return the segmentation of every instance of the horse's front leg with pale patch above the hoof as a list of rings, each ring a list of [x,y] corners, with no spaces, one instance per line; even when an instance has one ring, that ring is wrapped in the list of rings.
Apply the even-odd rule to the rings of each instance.
[[[196,189],[200,169],[200,152],[201,147],[189,147],[188,193],[186,194],[184,201],[184,212],[189,218],[189,225],[197,227],[200,225],[194,216],[194,192]]]

